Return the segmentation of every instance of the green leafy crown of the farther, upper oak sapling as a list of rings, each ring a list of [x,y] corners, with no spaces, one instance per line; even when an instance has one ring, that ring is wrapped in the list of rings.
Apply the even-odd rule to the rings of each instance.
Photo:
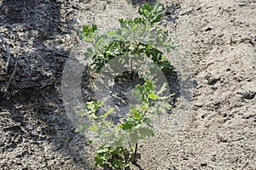
[[[162,19],[162,6],[145,3],[138,9],[137,17],[133,20],[119,19],[120,27],[101,34],[96,25],[84,26],[79,36],[85,42],[90,42],[92,48],[87,48],[85,59],[92,59],[91,66],[97,72],[110,59],[125,54],[137,54],[152,59],[160,69],[173,70],[170,61],[164,53],[169,53],[177,47],[169,36],[168,31],[158,28]]]

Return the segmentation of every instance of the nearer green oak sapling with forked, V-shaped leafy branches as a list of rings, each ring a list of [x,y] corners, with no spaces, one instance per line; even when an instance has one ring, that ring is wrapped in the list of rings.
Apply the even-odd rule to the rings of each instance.
[[[172,95],[161,95],[165,90],[166,84],[156,92],[154,83],[150,80],[143,85],[138,84],[132,95],[139,104],[131,105],[130,111],[118,124],[108,120],[113,108],[104,114],[98,112],[103,106],[102,101],[87,102],[86,109],[77,112],[77,116],[87,116],[89,121],[79,125],[76,132],[94,132],[94,137],[89,139],[90,144],[101,142],[94,157],[96,166],[108,165],[113,169],[122,169],[135,161],[138,142],[154,135],[152,119],[172,109],[166,101]]]

